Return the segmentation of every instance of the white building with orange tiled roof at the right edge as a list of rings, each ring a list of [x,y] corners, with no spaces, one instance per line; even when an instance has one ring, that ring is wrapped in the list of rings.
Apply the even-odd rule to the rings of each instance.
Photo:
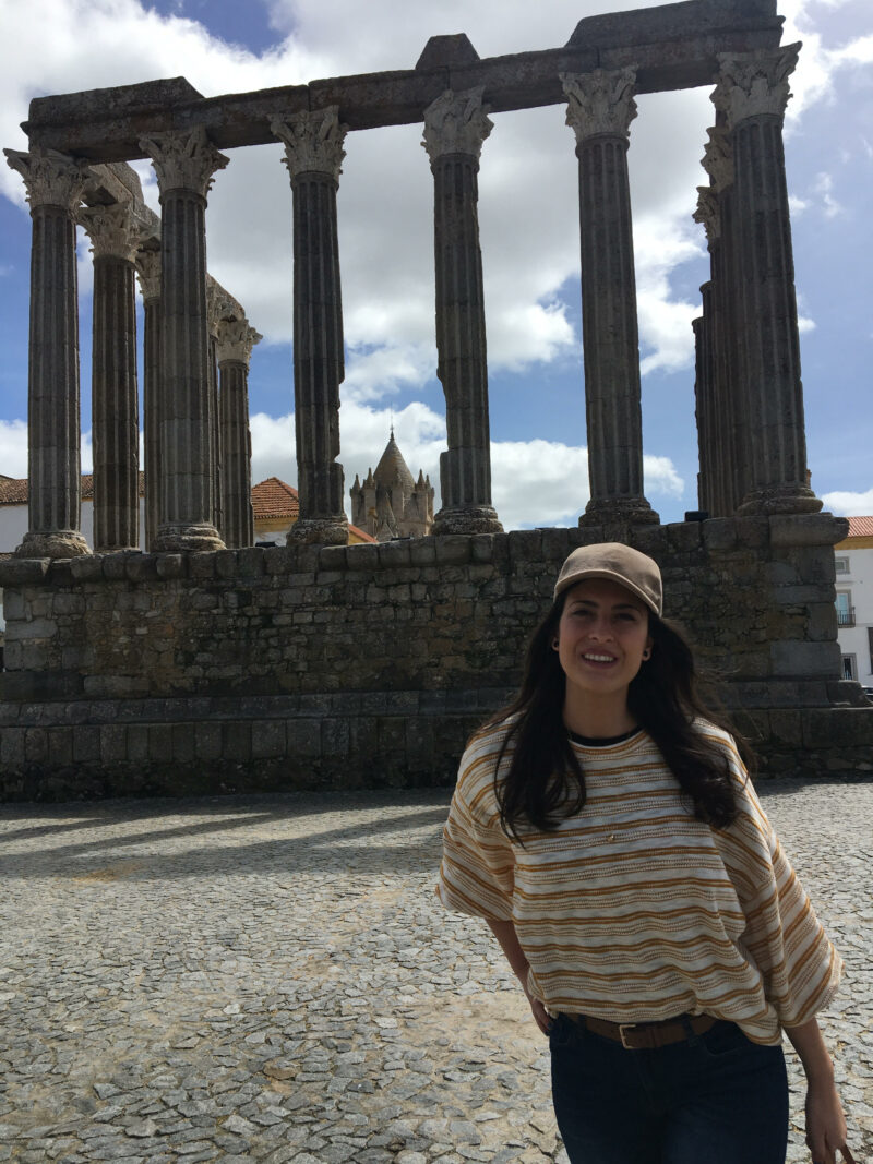
[[[850,517],[833,554],[843,679],[873,688],[873,517]]]

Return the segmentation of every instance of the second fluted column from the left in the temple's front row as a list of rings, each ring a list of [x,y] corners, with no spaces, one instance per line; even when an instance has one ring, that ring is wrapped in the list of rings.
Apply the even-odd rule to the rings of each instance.
[[[220,549],[213,525],[206,194],[227,158],[200,126],[144,137],[161,191],[161,520],[155,549]]]

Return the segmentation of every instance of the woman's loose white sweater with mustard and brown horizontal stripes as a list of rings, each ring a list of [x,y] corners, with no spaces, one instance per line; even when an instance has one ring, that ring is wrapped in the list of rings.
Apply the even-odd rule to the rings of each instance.
[[[842,960],[789,865],[731,737],[723,751],[739,815],[712,829],[646,732],[606,747],[574,743],[587,803],[555,832],[501,829],[495,768],[505,728],[461,760],[436,892],[452,909],[511,921],[528,988],[552,1013],[611,1022],[708,1014],[757,1043],[832,998]],[[502,764],[509,766],[511,746]]]

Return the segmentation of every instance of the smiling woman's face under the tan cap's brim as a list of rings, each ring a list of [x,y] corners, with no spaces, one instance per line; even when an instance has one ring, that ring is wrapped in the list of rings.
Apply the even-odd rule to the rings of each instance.
[[[567,592],[556,639],[568,695],[626,698],[652,650],[648,608],[617,582],[577,582]]]

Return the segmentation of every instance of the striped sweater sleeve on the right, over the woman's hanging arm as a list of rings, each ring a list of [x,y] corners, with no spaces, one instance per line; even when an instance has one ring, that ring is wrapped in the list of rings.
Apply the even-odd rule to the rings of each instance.
[[[732,745],[732,741],[731,741]],[[741,943],[782,1027],[800,1027],[826,1007],[843,960],[828,939],[797,874],[731,746],[739,816],[719,847],[746,917]]]

